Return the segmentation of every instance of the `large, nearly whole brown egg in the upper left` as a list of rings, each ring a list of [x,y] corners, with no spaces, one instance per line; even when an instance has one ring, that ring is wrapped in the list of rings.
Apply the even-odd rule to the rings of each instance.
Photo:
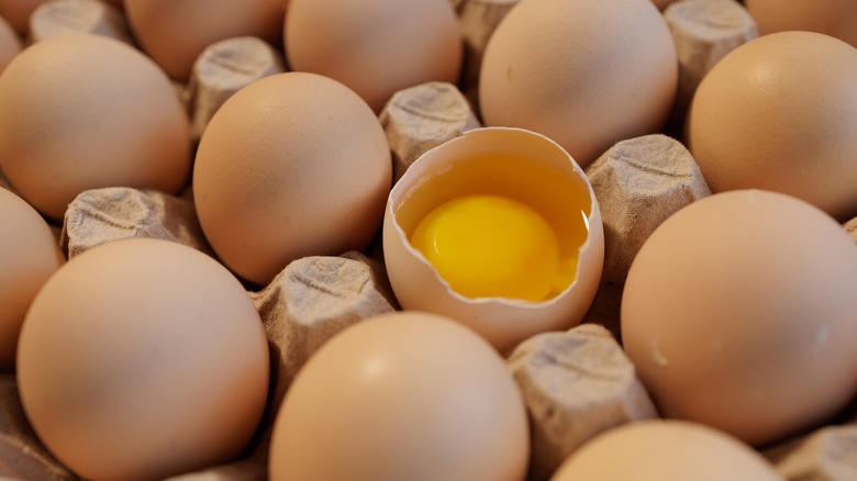
[[[190,174],[187,115],[166,75],[101,35],[37,42],[0,76],[0,168],[21,195],[62,220],[87,189],[177,192]]]

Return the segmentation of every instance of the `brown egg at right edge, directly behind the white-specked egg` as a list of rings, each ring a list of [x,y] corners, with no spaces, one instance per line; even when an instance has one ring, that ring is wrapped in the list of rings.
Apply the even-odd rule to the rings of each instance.
[[[857,49],[813,32],[763,35],[702,79],[687,139],[713,192],[766,189],[857,215]]]

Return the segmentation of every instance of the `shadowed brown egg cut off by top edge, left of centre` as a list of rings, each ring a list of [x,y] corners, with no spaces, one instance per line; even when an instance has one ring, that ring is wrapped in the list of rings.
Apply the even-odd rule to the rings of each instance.
[[[214,42],[256,36],[280,42],[288,0],[125,0],[125,14],[143,49],[176,80]]]

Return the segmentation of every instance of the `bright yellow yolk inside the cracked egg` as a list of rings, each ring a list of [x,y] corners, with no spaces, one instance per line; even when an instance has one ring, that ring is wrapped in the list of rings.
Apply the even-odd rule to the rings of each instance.
[[[545,219],[511,198],[466,195],[431,211],[411,245],[468,298],[543,301],[559,272],[559,240]]]

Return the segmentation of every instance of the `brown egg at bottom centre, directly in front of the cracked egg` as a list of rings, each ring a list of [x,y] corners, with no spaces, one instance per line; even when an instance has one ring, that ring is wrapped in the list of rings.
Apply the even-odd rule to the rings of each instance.
[[[442,316],[397,312],[334,336],[286,393],[271,481],[523,481],[526,410],[500,356]]]

